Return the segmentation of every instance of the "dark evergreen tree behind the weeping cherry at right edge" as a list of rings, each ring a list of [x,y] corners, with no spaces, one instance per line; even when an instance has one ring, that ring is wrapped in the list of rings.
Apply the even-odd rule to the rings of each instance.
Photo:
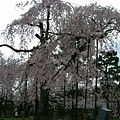
[[[107,103],[107,107],[110,108],[111,102],[117,102],[119,99],[119,89],[117,89],[120,82],[120,66],[117,52],[101,51],[98,59],[98,67],[102,74],[100,81],[100,89],[102,91],[102,97]]]

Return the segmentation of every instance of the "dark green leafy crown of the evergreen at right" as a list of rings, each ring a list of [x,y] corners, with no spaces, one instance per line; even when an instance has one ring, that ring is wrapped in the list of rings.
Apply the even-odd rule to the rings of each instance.
[[[101,52],[98,59],[98,68],[101,73],[103,73],[104,80],[113,80],[113,82],[119,81],[120,66],[118,65],[119,58],[117,57],[117,52],[108,51]]]

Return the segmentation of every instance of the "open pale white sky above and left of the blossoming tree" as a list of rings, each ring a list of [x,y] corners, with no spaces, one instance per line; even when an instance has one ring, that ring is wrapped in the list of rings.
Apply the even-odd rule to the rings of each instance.
[[[14,19],[17,19],[19,15],[22,13],[21,10],[17,10],[15,5],[19,2],[23,2],[27,0],[0,0],[0,33],[2,30],[5,30],[7,24],[11,23]],[[89,3],[97,2],[98,5],[101,6],[113,6],[120,10],[120,0],[63,0],[67,2],[74,3],[75,5],[85,5]],[[1,44],[1,36],[0,36],[0,44]],[[4,48],[6,49],[6,48]],[[3,51],[3,48],[0,48]],[[9,52],[5,52],[5,54],[9,55]]]

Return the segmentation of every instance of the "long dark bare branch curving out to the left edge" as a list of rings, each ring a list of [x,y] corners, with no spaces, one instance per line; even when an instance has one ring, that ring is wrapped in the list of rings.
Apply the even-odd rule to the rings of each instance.
[[[32,52],[34,49],[38,48],[38,46],[36,46],[36,47],[33,47],[32,49],[29,49],[29,50],[26,50],[26,49],[19,49],[18,50],[18,49],[15,49],[14,47],[12,47],[8,44],[2,44],[2,45],[0,45],[0,47],[8,47],[8,48],[12,49],[14,52]]]

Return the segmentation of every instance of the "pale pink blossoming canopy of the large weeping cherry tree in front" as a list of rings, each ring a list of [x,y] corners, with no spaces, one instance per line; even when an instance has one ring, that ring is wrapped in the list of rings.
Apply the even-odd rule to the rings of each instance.
[[[57,91],[58,85],[64,86],[64,80],[71,86],[76,85],[76,91],[83,83],[85,90],[94,91],[94,79],[101,75],[98,54],[101,49],[114,47],[120,32],[120,13],[113,7],[73,6],[60,0],[17,4],[22,9],[27,5],[31,5],[30,9],[6,28],[4,35],[10,44],[0,47],[31,53],[22,76],[30,101],[35,102],[35,97],[39,97],[36,90],[41,85],[44,84],[42,90]],[[29,50],[29,43],[35,40],[36,46]],[[20,49],[14,47],[18,41]]]

